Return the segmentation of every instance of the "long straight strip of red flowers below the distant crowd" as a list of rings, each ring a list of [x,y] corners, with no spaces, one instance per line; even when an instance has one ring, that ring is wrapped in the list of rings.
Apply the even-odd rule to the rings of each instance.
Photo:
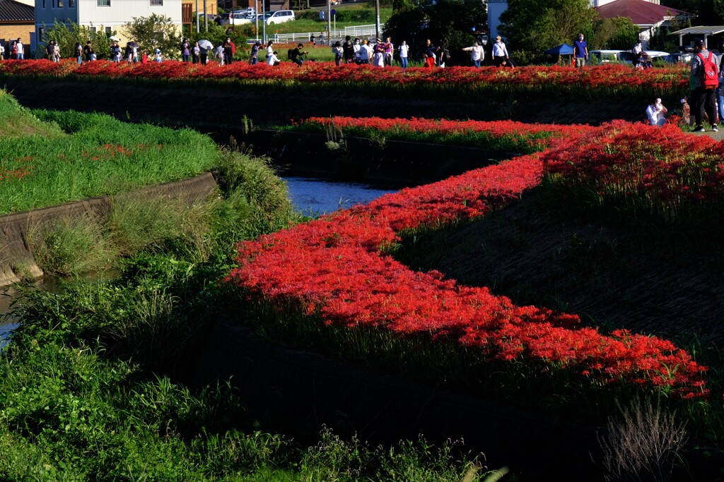
[[[233,79],[261,85],[330,85],[342,87],[365,86],[374,90],[404,92],[411,87],[450,90],[453,93],[475,92],[550,92],[565,95],[660,95],[686,92],[689,81],[684,66],[636,71],[623,65],[596,66],[574,69],[560,66],[531,66],[518,69],[484,67],[452,67],[449,69],[410,68],[404,73],[399,67],[377,69],[371,66],[347,64],[335,66],[332,62],[308,61],[299,67],[292,62],[279,66],[258,64],[250,66],[237,62],[230,66],[206,66],[165,61],[161,63],[127,65],[108,61],[94,61],[77,65],[72,59],[59,64],[41,59],[35,61],[3,61],[0,73],[10,75],[65,76],[146,79]]]

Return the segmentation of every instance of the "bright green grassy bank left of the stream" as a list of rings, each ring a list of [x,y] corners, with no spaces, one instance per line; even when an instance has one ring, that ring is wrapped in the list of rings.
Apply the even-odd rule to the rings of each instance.
[[[0,137],[0,215],[196,176],[219,155],[209,137],[190,129],[98,113],[30,113],[7,94],[0,121],[26,134]]]

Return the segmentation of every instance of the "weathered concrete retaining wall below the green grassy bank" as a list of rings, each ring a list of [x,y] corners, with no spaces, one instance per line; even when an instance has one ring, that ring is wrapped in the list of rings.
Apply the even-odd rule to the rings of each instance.
[[[210,173],[195,178],[149,186],[138,191],[139,197],[164,196],[197,202],[214,191],[216,181]],[[39,226],[59,219],[83,218],[88,215],[103,218],[111,210],[111,197],[93,197],[83,201],[44,209],[16,212],[0,217],[0,286],[20,281],[20,277],[42,277],[43,271],[35,262],[28,244],[28,233]]]

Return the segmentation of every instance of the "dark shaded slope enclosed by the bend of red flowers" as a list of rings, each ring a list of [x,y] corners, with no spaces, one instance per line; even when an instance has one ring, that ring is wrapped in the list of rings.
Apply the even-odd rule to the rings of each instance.
[[[718,231],[571,215],[531,193],[466,227],[405,239],[403,261],[607,330],[724,343]]]

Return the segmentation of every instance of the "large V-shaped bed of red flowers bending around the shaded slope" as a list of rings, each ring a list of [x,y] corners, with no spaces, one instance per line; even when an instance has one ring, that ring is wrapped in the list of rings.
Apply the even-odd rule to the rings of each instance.
[[[676,135],[675,126],[636,126],[637,136],[627,134],[631,127],[620,122],[584,131],[570,127],[538,154],[403,189],[369,205],[245,242],[227,282],[275,306],[298,304],[326,325],[426,336],[437,343],[475,348],[491,359],[530,360],[547,363],[550,369],[573,370],[595,383],[641,384],[678,397],[705,397],[706,368],[668,340],[627,330],[604,335],[581,327],[576,314],[515,306],[487,288],[458,285],[439,272],[414,272],[385,254],[397,233],[481,218],[515,202],[543,176],[570,178],[571,184],[590,176],[614,193],[625,186],[631,188],[628,193],[655,193],[657,199],[665,198],[664,188],[671,186],[719,195],[704,189],[724,169],[721,156],[715,158],[718,145],[689,142],[683,134]],[[645,145],[654,142],[657,148],[642,151],[642,138],[647,139]],[[581,158],[592,143],[604,147]],[[681,165],[670,167],[665,155],[681,149],[689,155]],[[696,167],[702,162],[706,168]],[[648,168],[622,167],[641,163]],[[702,189],[688,174],[697,169],[712,173],[700,179]]]

